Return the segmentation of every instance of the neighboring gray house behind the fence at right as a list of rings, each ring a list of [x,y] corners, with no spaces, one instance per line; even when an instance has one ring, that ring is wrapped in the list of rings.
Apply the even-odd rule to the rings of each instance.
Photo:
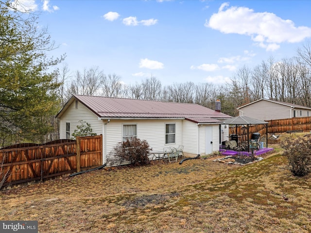
[[[311,108],[266,99],[256,100],[237,109],[239,110],[239,116],[249,116],[259,120],[275,120],[311,116]]]

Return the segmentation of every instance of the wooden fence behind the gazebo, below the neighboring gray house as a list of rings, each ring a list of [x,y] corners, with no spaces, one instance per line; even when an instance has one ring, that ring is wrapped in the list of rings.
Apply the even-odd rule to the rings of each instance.
[[[268,133],[285,133],[292,131],[311,131],[311,117],[294,117],[287,119],[278,120],[265,120],[268,122]],[[236,133],[236,127],[230,126],[229,134]],[[239,135],[243,134],[241,126],[238,127]],[[245,131],[245,133],[247,133]],[[260,135],[265,135],[266,128],[265,125],[250,125],[249,126],[249,138],[251,138],[252,133],[260,133]]]

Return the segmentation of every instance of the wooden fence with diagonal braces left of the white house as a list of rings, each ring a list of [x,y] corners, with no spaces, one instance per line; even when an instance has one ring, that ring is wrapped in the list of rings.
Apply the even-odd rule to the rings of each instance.
[[[77,137],[76,140],[55,140],[38,146],[0,149],[0,182],[2,186],[8,186],[43,181],[101,166],[102,141],[102,135],[97,135]]]

